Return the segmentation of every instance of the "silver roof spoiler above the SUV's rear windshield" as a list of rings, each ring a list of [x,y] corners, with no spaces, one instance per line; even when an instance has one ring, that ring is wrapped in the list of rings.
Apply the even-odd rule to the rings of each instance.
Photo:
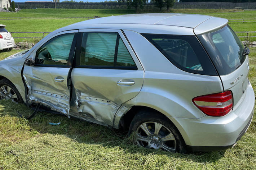
[[[207,34],[217,31],[228,24],[228,19],[211,17],[194,28],[195,35]]]

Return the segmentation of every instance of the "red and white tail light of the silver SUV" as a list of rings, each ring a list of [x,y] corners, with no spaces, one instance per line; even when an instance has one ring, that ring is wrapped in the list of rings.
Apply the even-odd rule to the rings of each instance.
[[[224,116],[233,109],[232,92],[225,91],[210,95],[198,96],[193,103],[208,116]]]

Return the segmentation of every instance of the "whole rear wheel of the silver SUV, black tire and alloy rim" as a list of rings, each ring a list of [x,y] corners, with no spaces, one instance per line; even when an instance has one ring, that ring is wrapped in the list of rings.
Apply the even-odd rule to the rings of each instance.
[[[186,153],[185,142],[178,129],[166,116],[158,112],[138,112],[130,124],[128,133],[131,135],[133,132],[134,141],[139,146]]]

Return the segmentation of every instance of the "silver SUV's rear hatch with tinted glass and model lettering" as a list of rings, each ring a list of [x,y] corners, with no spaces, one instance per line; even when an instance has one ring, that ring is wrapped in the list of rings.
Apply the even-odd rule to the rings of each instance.
[[[220,75],[224,91],[233,93],[234,110],[242,102],[248,87],[249,63],[246,49],[227,25],[217,31],[198,35]]]

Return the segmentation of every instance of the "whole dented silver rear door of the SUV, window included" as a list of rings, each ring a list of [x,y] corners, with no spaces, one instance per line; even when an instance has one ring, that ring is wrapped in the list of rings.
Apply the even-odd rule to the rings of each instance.
[[[70,115],[113,125],[119,107],[140,92],[144,70],[122,31],[84,29],[79,33]]]

